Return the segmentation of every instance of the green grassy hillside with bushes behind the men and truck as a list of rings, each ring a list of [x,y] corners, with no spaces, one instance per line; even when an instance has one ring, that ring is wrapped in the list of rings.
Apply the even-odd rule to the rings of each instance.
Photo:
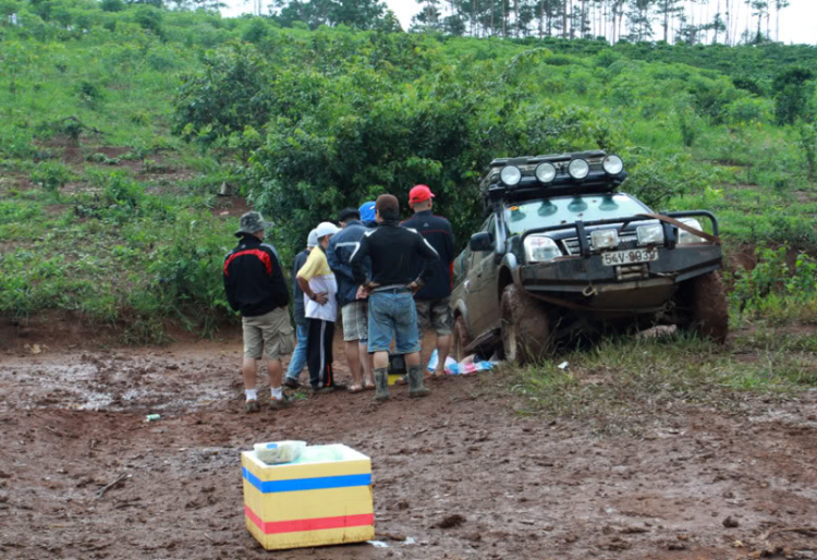
[[[0,26],[5,317],[72,311],[133,342],[161,340],[167,319],[206,333],[232,317],[220,264],[244,197],[278,222],[285,264],[339,208],[405,202],[417,182],[462,246],[490,158],[601,147],[624,159],[627,192],[718,215],[736,321],[817,320],[814,260],[796,257],[817,252],[812,47],[309,32],[73,0],[3,10],[20,23]]]

